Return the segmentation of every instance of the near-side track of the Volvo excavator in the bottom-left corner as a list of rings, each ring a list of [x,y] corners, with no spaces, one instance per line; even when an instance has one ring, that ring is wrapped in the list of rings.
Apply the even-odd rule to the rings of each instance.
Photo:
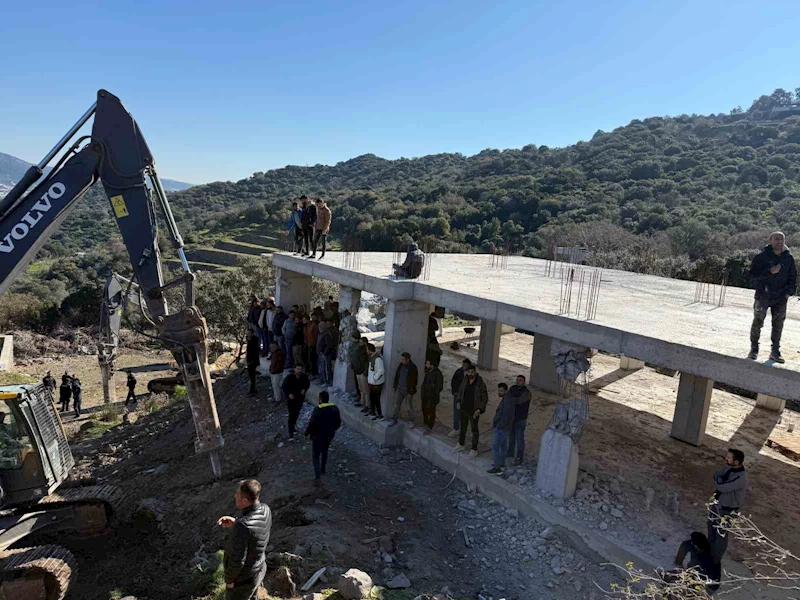
[[[62,600],[77,571],[72,553],[47,544],[0,552],[0,600]]]

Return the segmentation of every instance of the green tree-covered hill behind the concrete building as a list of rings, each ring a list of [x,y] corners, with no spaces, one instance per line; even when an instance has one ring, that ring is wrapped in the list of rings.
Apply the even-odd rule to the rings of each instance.
[[[171,197],[203,232],[285,214],[287,200],[305,193],[326,197],[333,234],[358,232],[365,249],[388,250],[408,234],[435,237],[444,251],[510,243],[537,254],[563,241],[600,252],[646,236],[659,252],[694,260],[761,245],[768,229],[800,231],[798,102],[800,89],[776,90],[747,111],[634,120],[566,148],[400,160],[368,154]],[[586,223],[603,225],[572,227]]]

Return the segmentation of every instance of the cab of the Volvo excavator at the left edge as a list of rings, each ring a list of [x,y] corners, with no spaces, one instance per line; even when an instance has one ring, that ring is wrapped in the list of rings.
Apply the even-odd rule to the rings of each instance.
[[[74,464],[50,390],[42,384],[0,386],[2,506],[38,502]]]

